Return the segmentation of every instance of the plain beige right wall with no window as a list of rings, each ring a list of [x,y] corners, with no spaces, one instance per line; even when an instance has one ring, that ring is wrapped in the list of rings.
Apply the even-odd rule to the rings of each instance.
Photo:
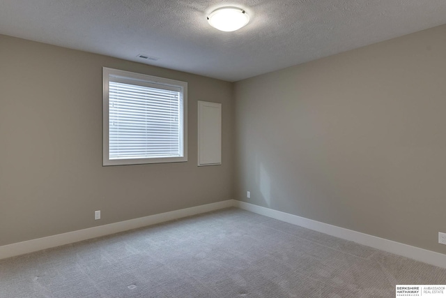
[[[446,253],[445,36],[237,82],[236,199]]]

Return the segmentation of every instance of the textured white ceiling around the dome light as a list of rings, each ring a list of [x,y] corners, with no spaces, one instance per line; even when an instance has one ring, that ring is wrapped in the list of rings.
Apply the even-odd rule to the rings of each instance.
[[[251,21],[217,31],[221,6]],[[440,24],[446,0],[0,1],[2,34],[231,82]]]

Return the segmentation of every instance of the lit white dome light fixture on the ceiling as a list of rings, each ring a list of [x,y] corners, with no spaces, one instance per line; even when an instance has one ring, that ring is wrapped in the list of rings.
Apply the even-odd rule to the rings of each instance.
[[[249,22],[249,15],[241,8],[222,7],[210,13],[208,22],[220,31],[236,31]]]

